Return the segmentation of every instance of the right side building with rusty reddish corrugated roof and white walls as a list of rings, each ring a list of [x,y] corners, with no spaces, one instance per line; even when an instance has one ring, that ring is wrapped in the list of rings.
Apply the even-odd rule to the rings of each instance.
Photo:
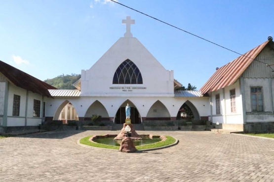
[[[209,118],[224,129],[274,131],[274,42],[248,51],[216,72],[200,89],[210,95]]]

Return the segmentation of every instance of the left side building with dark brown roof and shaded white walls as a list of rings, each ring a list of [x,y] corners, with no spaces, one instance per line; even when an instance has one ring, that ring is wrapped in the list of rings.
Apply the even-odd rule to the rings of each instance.
[[[0,133],[37,129],[52,98],[48,89],[56,88],[0,61]]]

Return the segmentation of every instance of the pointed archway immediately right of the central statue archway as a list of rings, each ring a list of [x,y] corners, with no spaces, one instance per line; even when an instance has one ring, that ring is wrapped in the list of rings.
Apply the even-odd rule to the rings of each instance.
[[[157,100],[150,108],[147,114],[147,121],[153,120],[170,120],[170,114],[165,105]]]

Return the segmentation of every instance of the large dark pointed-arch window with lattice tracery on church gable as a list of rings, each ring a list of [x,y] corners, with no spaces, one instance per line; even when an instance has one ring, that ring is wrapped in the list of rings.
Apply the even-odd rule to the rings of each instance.
[[[113,84],[143,84],[138,67],[130,60],[123,61],[113,76]]]

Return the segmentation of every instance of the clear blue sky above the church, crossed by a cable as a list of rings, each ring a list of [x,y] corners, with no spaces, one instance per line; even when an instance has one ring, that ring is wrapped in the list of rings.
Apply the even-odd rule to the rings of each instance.
[[[245,53],[274,36],[274,0],[118,0],[162,21]],[[109,0],[1,0],[0,60],[45,80],[89,69],[131,32],[183,85],[200,89],[238,57]],[[112,73],[111,73],[112,74]]]

